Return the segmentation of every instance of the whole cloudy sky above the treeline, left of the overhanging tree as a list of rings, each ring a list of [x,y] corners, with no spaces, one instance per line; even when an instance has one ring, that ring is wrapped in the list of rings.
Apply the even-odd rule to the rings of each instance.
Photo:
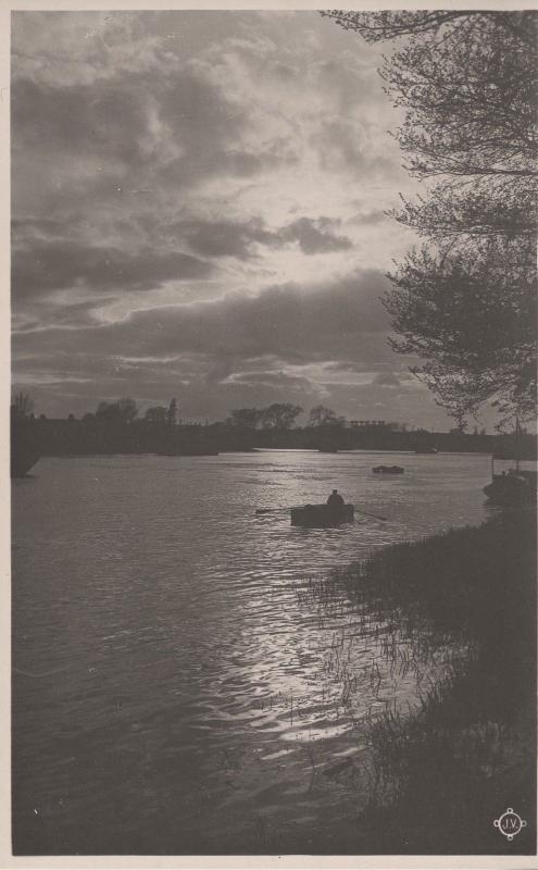
[[[14,389],[452,423],[387,338],[416,241],[381,49],[316,12],[17,12]],[[411,361],[412,362],[412,361]]]

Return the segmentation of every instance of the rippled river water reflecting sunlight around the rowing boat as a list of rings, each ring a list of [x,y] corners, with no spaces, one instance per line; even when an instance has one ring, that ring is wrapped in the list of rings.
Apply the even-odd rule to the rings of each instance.
[[[480,523],[489,476],[455,453],[41,459],[13,483],[16,850],[308,852],[352,819],[361,723],[412,706],[416,675],[345,597],[321,614],[305,581]],[[387,520],[254,515],[333,488]]]

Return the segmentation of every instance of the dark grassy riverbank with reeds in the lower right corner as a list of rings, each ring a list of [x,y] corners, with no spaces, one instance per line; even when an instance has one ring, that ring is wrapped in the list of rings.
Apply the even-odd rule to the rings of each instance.
[[[412,656],[447,644],[454,655],[417,709],[372,722],[370,803],[335,852],[535,852],[535,526],[530,511],[506,513],[338,572],[358,610],[403,630]],[[512,842],[493,826],[508,807],[527,821]]]

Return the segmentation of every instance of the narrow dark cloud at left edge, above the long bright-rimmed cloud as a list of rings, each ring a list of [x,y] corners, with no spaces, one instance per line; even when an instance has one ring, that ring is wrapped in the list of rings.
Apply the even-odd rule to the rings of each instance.
[[[85,287],[91,290],[146,290],[165,281],[208,276],[212,266],[187,253],[159,253],[152,249],[126,253],[116,248],[26,239],[12,259],[15,299],[51,290]]]

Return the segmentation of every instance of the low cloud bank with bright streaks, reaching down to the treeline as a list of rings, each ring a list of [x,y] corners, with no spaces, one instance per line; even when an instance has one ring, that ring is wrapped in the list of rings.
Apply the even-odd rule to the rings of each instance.
[[[383,275],[363,271],[327,285],[138,311],[103,326],[18,334],[21,383],[49,413],[65,401],[82,413],[130,395],[142,405],[176,396],[184,415],[202,419],[295,400],[323,401],[350,419],[427,422],[435,406],[423,385],[390,368],[385,287]]]

